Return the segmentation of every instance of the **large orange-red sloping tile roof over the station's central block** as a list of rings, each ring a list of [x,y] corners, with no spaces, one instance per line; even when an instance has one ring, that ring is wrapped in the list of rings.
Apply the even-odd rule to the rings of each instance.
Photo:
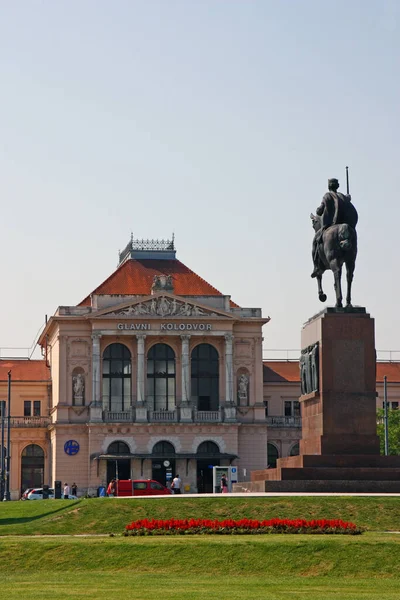
[[[100,284],[92,294],[145,295],[151,293],[154,275],[172,275],[177,296],[222,296],[215,287],[179,260],[129,259]],[[79,306],[90,306],[86,296]],[[237,304],[231,302],[231,306]]]

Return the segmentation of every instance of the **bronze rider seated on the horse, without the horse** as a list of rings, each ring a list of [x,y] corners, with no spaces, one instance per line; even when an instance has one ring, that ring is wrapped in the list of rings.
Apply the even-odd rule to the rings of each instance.
[[[328,179],[328,193],[322,199],[317,208],[319,224],[314,222],[316,233],[313,240],[312,256],[314,261],[314,271],[311,277],[316,277],[321,268],[319,257],[319,246],[323,242],[323,234],[331,225],[340,225],[347,223],[353,229],[356,228],[358,215],[354,205],[351,203],[351,196],[338,192],[339,181],[337,179]]]

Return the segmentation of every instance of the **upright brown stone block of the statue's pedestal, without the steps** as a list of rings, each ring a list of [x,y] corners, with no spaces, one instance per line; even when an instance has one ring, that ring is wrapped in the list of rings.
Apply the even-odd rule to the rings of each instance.
[[[304,325],[302,349],[318,348],[318,390],[300,396],[300,454],[379,455],[374,320],[325,309]]]

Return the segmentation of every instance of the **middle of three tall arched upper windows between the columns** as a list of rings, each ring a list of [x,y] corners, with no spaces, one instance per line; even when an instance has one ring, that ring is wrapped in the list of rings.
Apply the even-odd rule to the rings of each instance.
[[[147,401],[153,410],[175,408],[175,353],[155,344],[147,354]]]

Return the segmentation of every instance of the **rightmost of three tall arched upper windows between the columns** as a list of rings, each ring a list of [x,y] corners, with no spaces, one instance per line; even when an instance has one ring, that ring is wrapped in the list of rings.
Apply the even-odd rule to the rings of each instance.
[[[219,359],[210,344],[199,344],[192,350],[191,398],[199,411],[219,409]]]

